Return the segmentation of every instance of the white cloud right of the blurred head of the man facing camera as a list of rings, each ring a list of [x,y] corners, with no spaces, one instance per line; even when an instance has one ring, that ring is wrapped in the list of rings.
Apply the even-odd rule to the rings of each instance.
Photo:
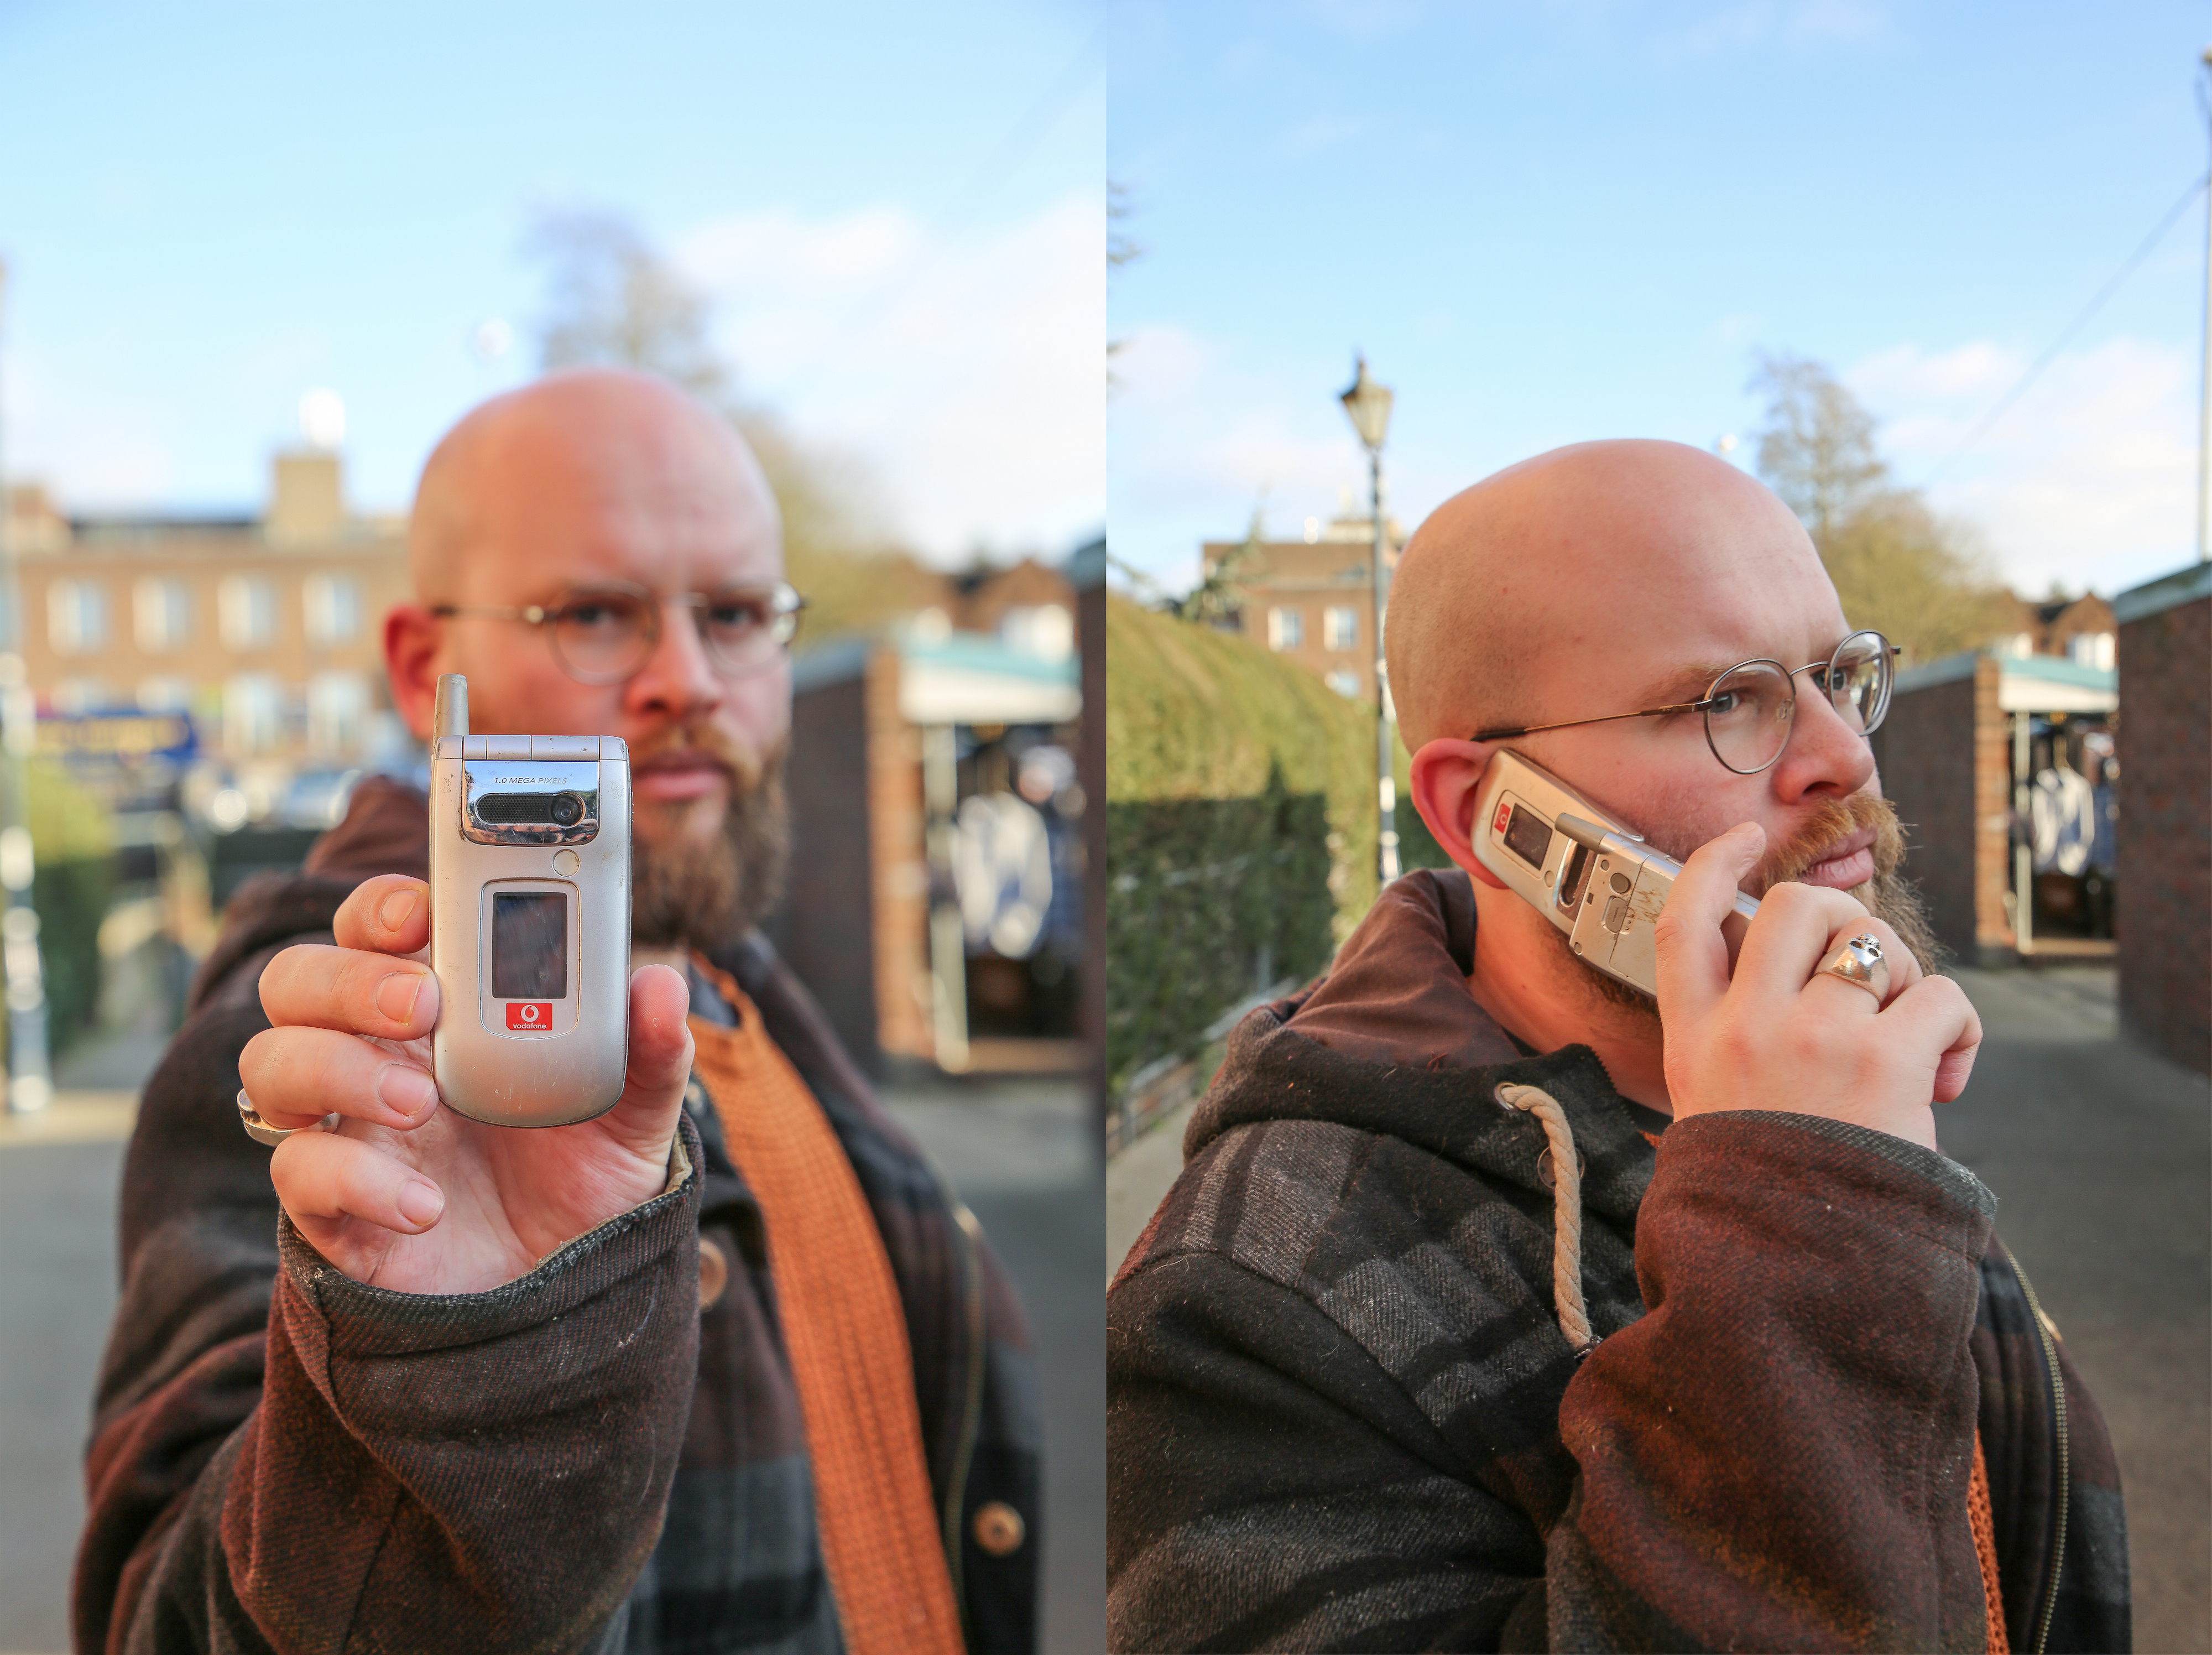
[[[918,551],[1057,555],[1104,520],[1106,210],[989,232],[896,206],[714,219],[677,243],[745,394],[860,456]]]

